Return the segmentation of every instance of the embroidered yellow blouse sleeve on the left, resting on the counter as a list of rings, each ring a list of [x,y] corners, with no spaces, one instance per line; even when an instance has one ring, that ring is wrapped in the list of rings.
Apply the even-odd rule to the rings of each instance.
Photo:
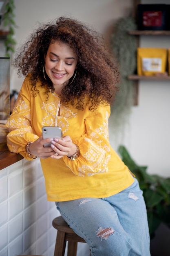
[[[32,160],[26,153],[26,144],[38,139],[38,135],[34,134],[31,127],[31,92],[25,85],[26,81],[18,94],[13,112],[7,120],[6,127],[10,131],[7,135],[7,145],[11,152],[20,153],[24,158]]]

